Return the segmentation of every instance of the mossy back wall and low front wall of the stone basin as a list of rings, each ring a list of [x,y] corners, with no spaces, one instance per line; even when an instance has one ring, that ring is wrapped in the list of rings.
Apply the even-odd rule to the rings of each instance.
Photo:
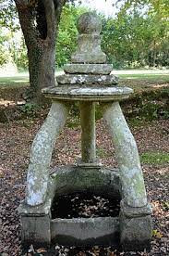
[[[120,198],[119,176],[115,169],[57,168],[52,174],[52,179],[55,184],[55,196],[88,191]],[[118,216],[51,220],[51,238],[62,245],[116,246],[119,234]]]

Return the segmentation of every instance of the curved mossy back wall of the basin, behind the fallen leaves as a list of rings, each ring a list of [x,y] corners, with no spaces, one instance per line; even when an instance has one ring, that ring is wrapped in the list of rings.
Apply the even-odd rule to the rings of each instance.
[[[120,198],[121,183],[115,169],[57,167],[51,174],[56,196],[88,191],[111,198]]]

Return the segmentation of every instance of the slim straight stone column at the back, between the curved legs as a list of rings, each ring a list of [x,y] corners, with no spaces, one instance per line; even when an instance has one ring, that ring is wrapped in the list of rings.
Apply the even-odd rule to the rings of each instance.
[[[96,161],[95,103],[79,103],[81,118],[81,160],[84,163]]]

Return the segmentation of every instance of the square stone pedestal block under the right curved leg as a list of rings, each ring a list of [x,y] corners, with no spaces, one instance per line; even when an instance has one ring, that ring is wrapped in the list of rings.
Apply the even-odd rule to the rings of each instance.
[[[150,250],[151,245],[151,205],[128,207],[121,201],[120,243],[123,250]]]

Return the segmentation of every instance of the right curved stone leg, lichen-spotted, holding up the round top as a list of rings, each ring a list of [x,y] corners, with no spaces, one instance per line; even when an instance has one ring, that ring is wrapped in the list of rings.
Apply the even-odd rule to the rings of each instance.
[[[147,196],[138,148],[119,103],[107,104],[103,118],[108,124],[115,144],[124,202],[130,207],[143,207],[147,205]]]

